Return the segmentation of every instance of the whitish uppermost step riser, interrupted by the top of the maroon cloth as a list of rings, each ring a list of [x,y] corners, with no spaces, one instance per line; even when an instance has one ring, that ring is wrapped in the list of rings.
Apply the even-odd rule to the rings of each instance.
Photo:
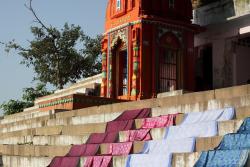
[[[112,105],[111,105],[112,106]],[[169,107],[156,107],[152,108],[152,116],[166,115],[170,113],[188,113],[188,112],[198,112],[205,111],[205,109],[218,109],[224,108],[228,106],[236,107],[239,112],[237,112],[237,118],[245,118],[245,115],[249,113],[250,106],[250,95],[242,96],[242,97],[234,97],[223,100],[213,100],[202,103],[191,103],[185,105],[176,105]],[[74,112],[74,111],[72,111]],[[83,112],[83,111],[82,111]],[[94,124],[94,123],[103,123],[108,122],[115,119],[122,112],[114,112],[107,114],[96,114],[87,112],[84,115],[73,116],[71,117],[68,113],[58,113],[58,114],[66,114],[65,117],[58,117],[58,114],[55,116],[43,116],[40,118],[33,118],[30,120],[18,121],[15,123],[8,124],[0,124],[0,133],[12,132],[25,130],[30,128],[39,128],[39,127],[51,127],[58,125],[82,125],[82,124]],[[81,113],[83,114],[83,113]]]

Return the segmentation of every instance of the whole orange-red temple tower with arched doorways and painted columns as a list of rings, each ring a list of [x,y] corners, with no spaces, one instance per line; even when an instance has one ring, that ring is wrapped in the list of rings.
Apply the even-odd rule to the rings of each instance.
[[[138,100],[195,89],[190,0],[109,0],[101,96]]]

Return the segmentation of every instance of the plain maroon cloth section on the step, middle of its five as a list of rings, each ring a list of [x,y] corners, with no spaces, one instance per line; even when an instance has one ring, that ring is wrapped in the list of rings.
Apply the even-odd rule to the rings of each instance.
[[[87,144],[101,144],[101,143],[115,143],[118,138],[118,132],[109,132],[109,133],[92,133],[88,140]]]

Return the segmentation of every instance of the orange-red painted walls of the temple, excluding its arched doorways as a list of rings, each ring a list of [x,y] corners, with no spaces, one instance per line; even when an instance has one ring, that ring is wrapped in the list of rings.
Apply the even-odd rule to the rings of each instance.
[[[134,5],[132,5],[134,4]],[[116,9],[116,0],[108,0],[105,22],[105,33],[102,41],[102,52],[107,55],[107,66],[103,66],[106,78],[103,78],[102,96],[137,100],[156,97],[158,92],[158,57],[160,29],[180,33],[179,38],[183,52],[183,87],[189,91],[194,90],[194,54],[193,38],[199,27],[191,24],[192,4],[190,0],[175,0],[174,8],[169,7],[168,0],[121,0],[120,10]],[[117,97],[111,94],[116,85],[109,85],[108,57],[110,48],[110,35],[120,29],[128,29],[127,48],[129,60],[128,95]],[[162,34],[161,34],[162,35]],[[178,37],[176,37],[178,38]],[[133,79],[135,60],[135,45],[138,45],[138,77]],[[106,72],[105,72],[106,71]],[[135,86],[136,85],[136,86]],[[133,95],[136,87],[137,94]]]

